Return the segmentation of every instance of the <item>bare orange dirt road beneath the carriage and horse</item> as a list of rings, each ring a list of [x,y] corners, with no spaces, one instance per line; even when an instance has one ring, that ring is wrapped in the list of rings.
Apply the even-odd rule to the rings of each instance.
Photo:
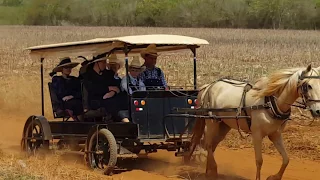
[[[19,140],[22,133],[25,117],[1,115],[1,138],[0,149],[7,153],[19,152]],[[290,154],[289,154],[290,155]],[[65,162],[87,171],[83,165],[83,159],[79,155],[74,158],[65,158]],[[230,150],[224,147],[218,148],[215,153],[218,163],[218,171],[221,179],[244,180],[255,178],[255,159],[253,149]],[[284,175],[284,180],[317,180],[320,179],[320,162],[300,160],[291,157],[290,164]],[[64,159],[64,158],[62,158]],[[262,178],[276,173],[280,167],[280,156],[264,155]],[[162,179],[203,179],[205,165],[186,166],[182,165],[181,159],[176,158],[174,153],[159,151],[151,154],[148,158],[123,160],[120,165],[130,171],[121,172],[113,176],[114,179],[122,180],[162,180]]]

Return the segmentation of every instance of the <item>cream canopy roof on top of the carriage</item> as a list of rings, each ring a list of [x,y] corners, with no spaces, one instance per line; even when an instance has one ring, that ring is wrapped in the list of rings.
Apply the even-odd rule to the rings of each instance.
[[[131,49],[129,54],[140,53],[149,44],[156,44],[159,52],[189,49],[189,46],[198,47],[209,44],[204,39],[167,34],[123,36],[115,38],[96,38],[86,41],[66,42],[33,46],[27,48],[31,56],[37,58],[92,56],[95,53],[106,53],[114,50],[116,54],[124,54],[125,44]]]

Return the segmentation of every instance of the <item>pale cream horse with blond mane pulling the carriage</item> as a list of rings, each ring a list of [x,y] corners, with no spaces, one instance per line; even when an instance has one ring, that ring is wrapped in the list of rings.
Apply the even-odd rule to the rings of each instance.
[[[214,151],[225,138],[231,128],[242,129],[252,134],[252,141],[256,159],[256,180],[260,180],[263,163],[262,140],[268,136],[282,156],[282,165],[279,172],[269,176],[267,180],[281,180],[289,157],[283,144],[282,131],[291,113],[292,104],[301,97],[305,107],[308,107],[313,116],[320,115],[320,79],[318,68],[305,68],[280,70],[269,77],[259,79],[254,86],[244,93],[245,85],[235,80],[219,80],[204,85],[198,94],[199,107],[205,109],[206,115],[237,116],[236,112],[216,112],[214,109],[233,108],[245,106],[241,115],[251,118],[214,119],[214,117],[197,119],[191,144],[190,159],[194,148],[200,143],[204,134],[205,148],[207,150],[206,175],[217,178],[217,164]],[[267,98],[266,98],[267,97]],[[243,99],[242,99],[243,98]],[[268,106],[264,106],[264,105]],[[210,112],[211,110],[211,112]],[[240,111],[238,111],[240,112]],[[203,113],[202,113],[203,115]],[[206,131],[204,133],[204,129]]]

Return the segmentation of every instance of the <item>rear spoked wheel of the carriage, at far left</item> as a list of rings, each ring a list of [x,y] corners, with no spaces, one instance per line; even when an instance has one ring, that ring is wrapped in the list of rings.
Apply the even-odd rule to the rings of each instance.
[[[26,125],[21,148],[28,155],[35,155],[40,148],[49,150],[49,140],[44,140],[43,127],[38,119],[34,118]]]

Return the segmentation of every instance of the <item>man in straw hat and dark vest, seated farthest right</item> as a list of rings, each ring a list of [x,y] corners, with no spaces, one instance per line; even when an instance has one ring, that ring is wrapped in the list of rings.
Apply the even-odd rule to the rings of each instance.
[[[164,78],[162,70],[156,67],[157,63],[157,47],[154,44],[151,44],[147,47],[146,50],[141,51],[141,57],[145,60],[144,65],[146,70],[140,74],[140,79],[143,81],[147,89],[148,87],[162,87],[165,90],[168,90],[167,82]],[[152,89],[152,88],[151,88]]]

